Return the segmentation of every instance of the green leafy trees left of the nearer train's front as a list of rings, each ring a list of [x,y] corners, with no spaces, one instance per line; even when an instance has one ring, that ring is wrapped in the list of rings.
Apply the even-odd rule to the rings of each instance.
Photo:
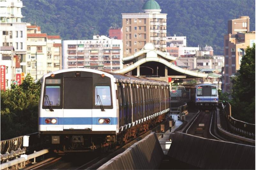
[[[28,74],[19,86],[1,91],[1,140],[37,131],[41,83]]]

